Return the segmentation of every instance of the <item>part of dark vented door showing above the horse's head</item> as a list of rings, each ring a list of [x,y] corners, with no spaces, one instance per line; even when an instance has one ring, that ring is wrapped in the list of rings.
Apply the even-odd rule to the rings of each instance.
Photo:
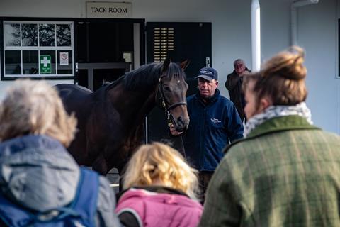
[[[191,61],[186,69],[188,95],[195,93],[197,82],[192,82],[193,78],[205,67],[206,57],[210,58],[210,65],[212,62],[211,23],[148,22],[147,62],[162,61],[168,55],[174,62]]]

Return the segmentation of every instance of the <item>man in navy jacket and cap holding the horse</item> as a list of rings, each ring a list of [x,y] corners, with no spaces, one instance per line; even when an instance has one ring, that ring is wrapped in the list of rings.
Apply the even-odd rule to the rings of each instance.
[[[223,157],[223,148],[243,137],[243,124],[236,107],[217,89],[217,71],[200,69],[198,93],[188,96],[188,131],[183,134],[188,162],[199,171],[200,187],[205,193],[208,182]],[[171,128],[171,133],[176,131]]]

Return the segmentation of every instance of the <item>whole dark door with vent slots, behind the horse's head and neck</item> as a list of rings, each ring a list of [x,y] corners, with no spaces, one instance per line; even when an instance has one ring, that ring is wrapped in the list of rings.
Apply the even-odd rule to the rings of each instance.
[[[186,69],[187,95],[196,93],[198,70],[211,58],[211,23],[147,23],[147,62],[163,61],[166,56],[173,62],[190,60]],[[170,138],[164,111],[155,108],[147,117],[148,142],[164,138],[181,148],[181,138]]]

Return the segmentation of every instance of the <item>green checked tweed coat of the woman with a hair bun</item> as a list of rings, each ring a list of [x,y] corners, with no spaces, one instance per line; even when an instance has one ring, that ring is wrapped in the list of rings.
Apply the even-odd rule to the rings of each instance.
[[[225,149],[200,226],[340,226],[340,137],[271,118]]]

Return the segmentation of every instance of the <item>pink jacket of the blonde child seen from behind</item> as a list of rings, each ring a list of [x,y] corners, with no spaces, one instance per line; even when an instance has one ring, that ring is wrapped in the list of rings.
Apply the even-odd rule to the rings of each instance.
[[[140,226],[198,226],[203,207],[181,194],[129,189],[120,197],[115,209],[118,215],[129,211]]]

